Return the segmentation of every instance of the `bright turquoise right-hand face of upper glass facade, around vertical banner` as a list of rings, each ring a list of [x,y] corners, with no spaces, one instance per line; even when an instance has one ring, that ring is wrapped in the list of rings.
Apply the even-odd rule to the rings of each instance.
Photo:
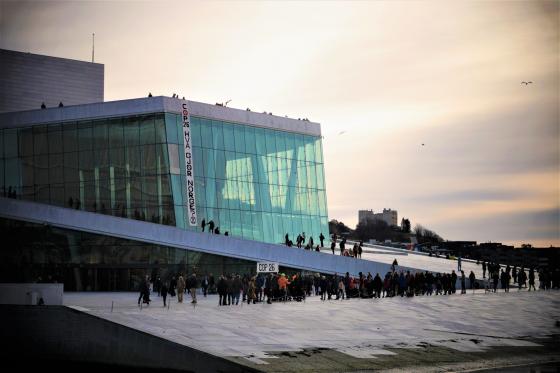
[[[167,141],[182,154],[180,121],[166,114]],[[294,241],[302,232],[315,242],[320,233],[328,237],[320,137],[198,117],[191,123],[199,222],[213,220],[222,233],[270,243],[283,243],[286,233]],[[178,162],[184,178],[184,159]],[[171,178],[180,185],[179,175]],[[181,214],[176,210],[177,221],[186,224]]]

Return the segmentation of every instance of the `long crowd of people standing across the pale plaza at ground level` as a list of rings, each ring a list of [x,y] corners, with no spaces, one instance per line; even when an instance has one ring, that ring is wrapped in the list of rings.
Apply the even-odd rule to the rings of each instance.
[[[384,276],[377,273],[360,273],[353,277],[348,272],[345,275],[320,275],[320,274],[285,274],[270,273],[258,275],[229,274],[221,275],[217,279],[212,275],[205,275],[201,279],[196,274],[173,276],[169,281],[162,281],[159,277],[153,281],[153,291],[163,299],[167,305],[167,296],[177,297],[177,302],[184,301],[184,294],[190,294],[191,303],[196,303],[197,289],[202,294],[218,294],[218,305],[231,306],[247,302],[255,304],[260,302],[273,303],[278,301],[303,301],[309,296],[320,296],[321,300],[350,299],[350,298],[389,298],[389,297],[414,297],[432,295],[450,295],[460,291],[465,294],[467,289],[484,288],[487,291],[498,291],[498,287],[509,292],[511,280],[517,284],[519,290],[527,288],[536,290],[535,276],[539,277],[539,287],[542,290],[560,288],[560,273],[558,270],[525,272],[523,268],[517,269],[509,266],[501,269],[491,264],[489,280],[477,279],[474,272],[467,276],[463,270],[451,273],[432,273],[429,271],[410,272],[398,270],[395,262],[391,271]],[[499,274],[498,274],[499,273]],[[510,273],[512,273],[510,275]],[[513,275],[514,274],[514,275]],[[484,277],[486,273],[484,272]],[[528,282],[527,282],[528,280]],[[498,286],[499,285],[499,286]],[[140,285],[138,303],[144,299],[149,304],[150,279],[147,277]]]

